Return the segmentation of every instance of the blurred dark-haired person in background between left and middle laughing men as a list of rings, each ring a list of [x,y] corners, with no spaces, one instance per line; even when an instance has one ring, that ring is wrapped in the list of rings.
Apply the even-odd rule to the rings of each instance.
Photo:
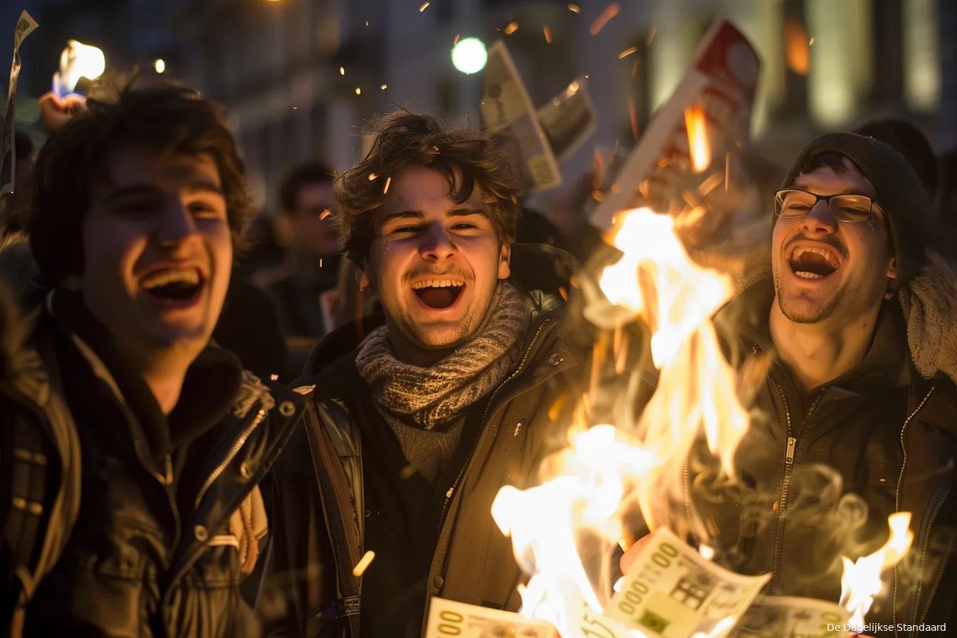
[[[279,224],[289,239],[285,263],[256,282],[273,298],[286,337],[319,339],[335,327],[339,233],[332,217],[333,171],[308,164],[279,187]]]

